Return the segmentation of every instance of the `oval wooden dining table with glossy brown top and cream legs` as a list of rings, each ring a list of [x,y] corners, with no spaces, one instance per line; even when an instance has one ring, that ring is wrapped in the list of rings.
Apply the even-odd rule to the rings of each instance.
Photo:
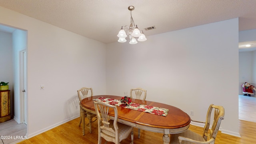
[[[82,131],[84,135],[84,113],[90,112],[92,114],[96,114],[93,100],[96,98],[112,98],[116,100],[120,100],[121,96],[112,96],[112,95],[98,95],[92,96],[88,98],[84,98],[80,101],[80,106],[82,107]],[[118,109],[118,122],[123,124],[127,124],[129,126],[133,126],[135,128],[140,128],[142,130],[147,130],[151,132],[159,132],[163,133],[163,143],[169,144],[170,137],[169,134],[178,134],[186,131],[190,126],[190,116],[176,108],[174,106],[170,106],[168,104],[162,104],[159,102],[151,102],[147,100],[138,100],[132,98],[132,103],[144,104],[147,106],[155,106],[158,108],[166,108],[168,109],[167,116],[159,116],[156,114],[151,114],[148,112],[142,112],[138,110],[132,110],[129,108],[119,107]],[[109,112],[110,118],[114,118],[114,111]],[[90,132],[91,132],[91,120],[90,121]]]

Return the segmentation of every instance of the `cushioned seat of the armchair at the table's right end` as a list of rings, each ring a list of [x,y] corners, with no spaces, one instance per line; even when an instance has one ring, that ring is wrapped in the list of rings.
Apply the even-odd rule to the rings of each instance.
[[[192,140],[205,142],[202,135],[197,134],[196,132],[193,132],[191,130],[186,130],[185,132],[182,132],[180,134],[171,134],[171,144],[179,144],[178,136],[184,136],[184,137],[190,138]],[[191,142],[182,141],[182,144],[191,144]]]

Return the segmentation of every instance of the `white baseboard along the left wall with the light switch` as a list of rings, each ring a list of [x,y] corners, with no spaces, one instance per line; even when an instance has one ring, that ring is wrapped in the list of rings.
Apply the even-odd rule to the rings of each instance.
[[[64,124],[64,123],[69,122],[70,120],[74,120],[74,119],[76,119],[76,118],[78,118],[78,117],[80,117],[80,114],[79,114],[79,115],[76,115],[76,116],[73,116],[73,117],[71,117],[71,118],[68,118],[68,119],[66,119],[66,120],[63,120],[63,121],[61,121],[61,122],[58,122],[58,123],[56,123],[56,124],[53,124],[53,125],[51,125],[51,126],[48,126],[48,127],[44,128],[44,129],[42,129],[42,130],[38,130],[37,132],[34,132],[34,133],[32,133],[32,134],[28,134],[28,135],[27,135],[27,138],[32,138],[33,136],[36,136],[36,135],[41,134],[41,133],[43,133],[43,132],[46,132],[47,130],[50,130],[50,129],[52,129],[52,128],[55,128],[56,126],[60,126],[60,125],[62,125],[62,124]]]

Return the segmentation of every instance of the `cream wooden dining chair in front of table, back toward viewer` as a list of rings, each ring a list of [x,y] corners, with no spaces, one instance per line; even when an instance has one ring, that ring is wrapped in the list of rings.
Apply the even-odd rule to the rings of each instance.
[[[133,127],[117,122],[118,112],[116,106],[94,101],[94,107],[98,117],[98,144],[101,144],[102,138],[107,142],[120,144],[130,134],[132,140],[130,144],[133,144]],[[114,120],[110,120],[108,112],[113,110],[115,114]]]

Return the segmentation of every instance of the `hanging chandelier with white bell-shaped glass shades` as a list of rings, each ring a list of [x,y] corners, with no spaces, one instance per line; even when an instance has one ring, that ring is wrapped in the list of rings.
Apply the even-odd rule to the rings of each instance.
[[[122,26],[121,30],[118,32],[118,42],[126,42],[126,37],[129,35],[130,42],[129,44],[137,44],[137,40],[135,38],[138,38],[138,41],[144,42],[146,41],[146,36],[143,34],[143,31],[140,31],[138,29],[138,26],[134,24],[133,18],[132,18],[132,10],[134,10],[134,6],[129,6],[128,10],[131,12],[131,24],[130,26]]]

